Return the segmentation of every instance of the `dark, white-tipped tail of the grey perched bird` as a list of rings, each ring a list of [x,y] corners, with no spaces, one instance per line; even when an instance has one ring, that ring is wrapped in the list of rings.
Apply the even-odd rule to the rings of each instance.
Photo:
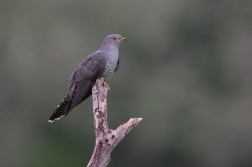
[[[53,122],[54,120],[59,120],[61,117],[69,113],[69,109],[72,103],[72,99],[67,95],[61,103],[57,106],[56,110],[54,113],[51,115],[49,118],[49,122]]]

